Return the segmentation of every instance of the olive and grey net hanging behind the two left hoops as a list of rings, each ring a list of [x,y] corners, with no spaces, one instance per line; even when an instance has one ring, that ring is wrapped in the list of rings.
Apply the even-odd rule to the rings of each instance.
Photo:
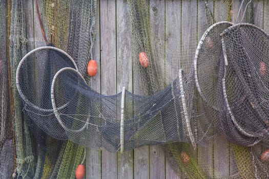
[[[89,84],[86,67],[88,60],[93,59],[96,0],[43,1],[43,14],[46,34],[48,37],[51,36],[50,41],[55,47],[67,51],[73,57],[79,72]],[[57,143],[62,146],[58,146]],[[46,152],[46,172],[43,173],[43,177],[74,177],[77,165],[84,160],[84,147],[71,141],[61,142],[51,138],[47,141],[47,145],[50,144],[56,144],[52,148],[57,148],[58,154],[52,149]]]

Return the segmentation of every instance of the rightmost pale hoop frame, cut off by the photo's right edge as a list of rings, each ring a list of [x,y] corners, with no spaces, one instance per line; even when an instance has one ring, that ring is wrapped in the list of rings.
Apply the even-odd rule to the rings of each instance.
[[[264,35],[268,36],[268,34],[262,30],[261,28],[253,25],[253,24],[250,24],[250,23],[240,23],[240,24],[235,24],[225,30],[223,30],[223,32],[220,34],[221,36],[221,42],[222,42],[222,52],[223,52],[223,56],[224,56],[224,75],[223,75],[223,78],[222,78],[222,92],[223,92],[223,97],[225,99],[225,104],[226,104],[226,108],[227,110],[229,111],[229,115],[233,121],[233,123],[235,124],[236,128],[246,137],[252,137],[252,138],[261,138],[259,140],[257,140],[258,142],[260,142],[263,138],[263,135],[253,135],[253,133],[250,133],[250,132],[247,132],[245,131],[241,126],[240,124],[237,122],[236,118],[234,117],[233,115],[233,112],[232,112],[232,109],[230,107],[230,104],[229,104],[229,100],[228,100],[228,95],[227,95],[227,92],[226,92],[226,66],[229,65],[229,62],[228,62],[228,57],[227,57],[227,54],[226,54],[226,44],[225,44],[225,40],[224,40],[224,35],[227,34],[228,32],[232,31],[232,30],[237,30],[239,29],[240,27],[244,27],[244,26],[249,26],[249,27],[253,27],[253,28],[256,28],[257,30],[259,30],[260,32],[262,32]]]

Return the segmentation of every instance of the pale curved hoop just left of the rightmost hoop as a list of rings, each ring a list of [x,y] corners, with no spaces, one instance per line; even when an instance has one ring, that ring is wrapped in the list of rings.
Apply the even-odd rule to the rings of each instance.
[[[220,21],[220,22],[215,23],[215,24],[213,24],[212,26],[210,26],[210,27],[204,32],[204,34],[202,35],[202,37],[201,37],[201,39],[200,39],[200,41],[199,41],[199,43],[198,43],[198,45],[197,45],[197,48],[196,48],[196,51],[195,51],[194,60],[193,60],[193,64],[194,64],[193,66],[194,66],[194,80],[195,80],[195,85],[196,85],[196,88],[197,88],[197,91],[198,91],[199,95],[201,96],[201,98],[202,98],[204,101],[206,101],[206,103],[208,103],[208,102],[207,102],[206,99],[204,99],[204,95],[203,95],[203,92],[202,92],[202,90],[201,90],[201,87],[200,87],[200,84],[199,84],[199,80],[198,80],[198,73],[197,73],[197,71],[198,71],[198,70],[197,70],[198,57],[199,57],[199,54],[200,54],[200,50],[201,50],[201,48],[202,48],[202,46],[203,46],[203,44],[204,44],[205,38],[208,36],[208,34],[209,34],[215,27],[217,27],[217,26],[219,26],[219,25],[223,25],[223,24],[230,25],[230,27],[234,25],[234,24],[231,23],[230,21]],[[210,105],[210,107],[212,107],[214,110],[217,110],[217,111],[218,111],[218,109],[217,109],[214,105]]]

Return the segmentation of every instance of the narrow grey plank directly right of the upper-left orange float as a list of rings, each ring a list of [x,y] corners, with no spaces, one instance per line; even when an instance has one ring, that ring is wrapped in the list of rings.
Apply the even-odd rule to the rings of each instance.
[[[100,12],[99,2],[96,5],[96,21],[95,21],[95,40],[93,58],[98,65],[97,74],[91,78],[91,87],[98,93],[101,92],[101,71],[100,71]],[[101,178],[101,149],[87,148],[86,150],[86,174],[87,179]]]

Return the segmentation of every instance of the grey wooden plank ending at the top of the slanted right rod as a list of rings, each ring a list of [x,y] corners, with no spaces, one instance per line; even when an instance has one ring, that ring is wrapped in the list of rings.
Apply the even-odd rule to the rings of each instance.
[[[178,75],[181,54],[181,2],[165,1],[165,84],[171,83]],[[180,178],[181,172],[165,157],[165,178]]]

